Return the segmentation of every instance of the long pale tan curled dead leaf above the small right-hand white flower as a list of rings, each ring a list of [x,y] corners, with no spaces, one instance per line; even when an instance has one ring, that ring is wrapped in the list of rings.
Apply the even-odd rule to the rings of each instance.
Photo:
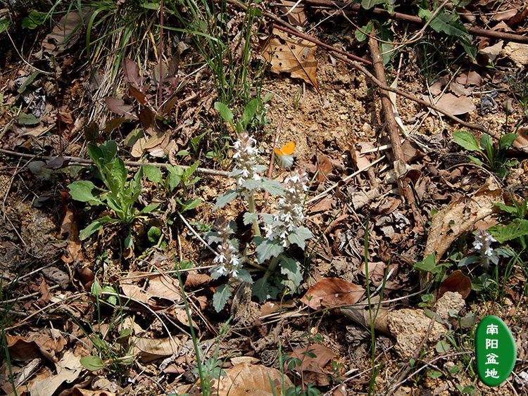
[[[436,212],[431,220],[424,257],[435,253],[438,262],[460,234],[494,213],[495,203],[504,204],[503,194],[503,190],[490,178],[474,196],[460,197],[446,209]]]

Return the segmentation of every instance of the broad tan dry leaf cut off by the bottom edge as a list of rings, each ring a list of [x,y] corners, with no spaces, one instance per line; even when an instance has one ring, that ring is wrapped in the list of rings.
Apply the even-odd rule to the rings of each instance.
[[[279,370],[260,364],[237,364],[225,370],[225,373],[220,379],[218,389],[217,381],[213,381],[212,395],[272,396],[280,394],[283,383],[286,389],[292,385],[289,378],[283,376]]]

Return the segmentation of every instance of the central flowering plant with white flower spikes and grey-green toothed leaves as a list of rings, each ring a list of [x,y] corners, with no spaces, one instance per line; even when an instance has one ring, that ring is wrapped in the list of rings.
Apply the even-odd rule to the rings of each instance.
[[[234,224],[217,222],[216,231],[209,232],[206,237],[209,243],[218,243],[219,254],[214,259],[216,265],[210,270],[211,276],[214,279],[227,276],[230,282],[251,283],[253,296],[264,302],[268,298],[276,298],[284,288],[295,291],[301,284],[301,264],[287,255],[287,250],[291,245],[306,248],[306,241],[312,237],[312,233],[303,226],[303,202],[308,190],[306,172],[291,171],[284,179],[284,185],[265,179],[262,173],[266,167],[257,162],[256,143],[246,131],[239,133],[234,143],[234,167],[230,172],[237,182],[236,189],[219,196],[214,207],[223,207],[237,198],[247,200],[248,210],[243,219],[245,224],[253,225],[256,262],[251,255],[239,253],[239,243],[232,238]],[[274,214],[256,212],[254,195],[261,190],[279,196]],[[264,269],[264,275],[253,283],[250,272],[243,267],[244,262]],[[225,306],[230,295],[229,284],[217,288],[213,296],[213,306],[217,312]]]

